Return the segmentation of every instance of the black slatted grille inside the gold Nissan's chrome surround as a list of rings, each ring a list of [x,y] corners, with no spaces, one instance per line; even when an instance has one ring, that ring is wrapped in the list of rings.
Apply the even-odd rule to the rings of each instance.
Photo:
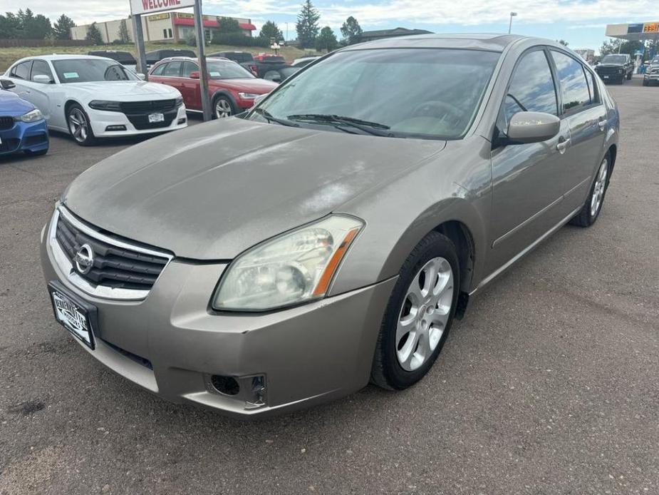
[[[103,237],[107,238],[106,235]],[[92,285],[130,290],[150,290],[169,261],[167,257],[120,248],[94,238],[73,222],[59,215],[55,238],[73,265],[73,271]],[[88,244],[93,251],[93,266],[83,274],[76,268],[74,257]]]

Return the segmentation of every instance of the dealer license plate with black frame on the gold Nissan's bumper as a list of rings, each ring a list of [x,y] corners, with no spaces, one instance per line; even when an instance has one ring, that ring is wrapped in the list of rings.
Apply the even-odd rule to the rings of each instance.
[[[98,309],[66,290],[58,281],[48,282],[48,293],[56,322],[84,345],[95,349],[94,330],[98,322]]]

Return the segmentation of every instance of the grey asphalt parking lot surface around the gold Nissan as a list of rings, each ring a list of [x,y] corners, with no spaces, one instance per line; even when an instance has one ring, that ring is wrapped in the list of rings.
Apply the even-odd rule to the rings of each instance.
[[[610,89],[621,149],[593,228],[474,297],[412,389],[259,422],[163,402],[53,320],[41,227],[134,141],[0,160],[0,494],[659,493],[659,88]]]

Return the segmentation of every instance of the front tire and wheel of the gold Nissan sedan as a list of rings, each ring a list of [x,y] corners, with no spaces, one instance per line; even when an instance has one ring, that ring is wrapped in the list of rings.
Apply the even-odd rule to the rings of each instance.
[[[380,325],[370,374],[373,384],[402,390],[430,370],[455,315],[459,267],[455,245],[440,233],[426,235],[412,250],[398,273]],[[433,270],[437,274],[434,286],[426,277]]]

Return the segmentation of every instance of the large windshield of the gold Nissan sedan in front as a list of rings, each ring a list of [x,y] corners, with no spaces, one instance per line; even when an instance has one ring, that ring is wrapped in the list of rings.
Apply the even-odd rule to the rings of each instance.
[[[387,136],[456,139],[471,125],[498,59],[460,49],[341,51],[279,86],[249,118],[336,131],[344,128],[327,116],[341,116],[360,128],[378,124]]]

